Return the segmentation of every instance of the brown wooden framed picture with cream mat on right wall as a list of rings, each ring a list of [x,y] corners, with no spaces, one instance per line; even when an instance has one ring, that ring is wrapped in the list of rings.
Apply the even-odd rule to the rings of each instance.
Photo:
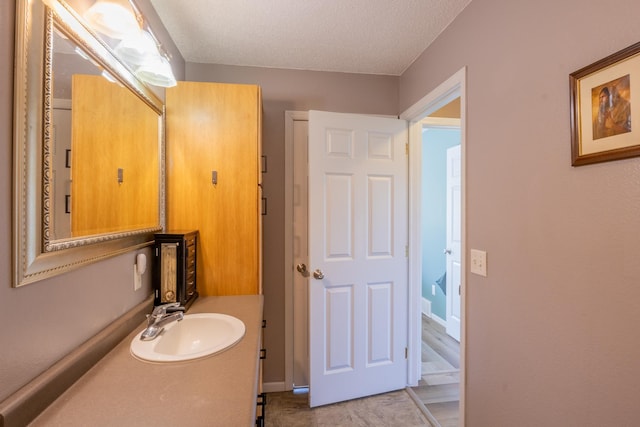
[[[571,165],[640,156],[640,42],[569,75]]]

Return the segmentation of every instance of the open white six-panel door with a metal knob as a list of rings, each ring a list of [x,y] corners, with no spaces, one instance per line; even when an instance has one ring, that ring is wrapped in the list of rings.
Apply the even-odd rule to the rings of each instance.
[[[309,112],[310,406],[407,383],[407,124]]]

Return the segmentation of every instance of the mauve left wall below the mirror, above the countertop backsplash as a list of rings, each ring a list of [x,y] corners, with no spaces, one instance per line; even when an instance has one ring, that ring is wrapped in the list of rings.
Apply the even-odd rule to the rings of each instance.
[[[150,272],[133,291],[135,255],[148,249],[11,288],[14,13],[0,2],[0,401],[151,293]]]

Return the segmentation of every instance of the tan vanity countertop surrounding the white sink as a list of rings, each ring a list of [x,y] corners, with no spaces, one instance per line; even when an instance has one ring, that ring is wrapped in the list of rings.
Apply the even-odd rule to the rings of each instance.
[[[235,346],[199,360],[154,364],[134,358],[136,328],[42,412],[32,426],[254,426],[262,296],[204,297],[188,313],[235,316]]]

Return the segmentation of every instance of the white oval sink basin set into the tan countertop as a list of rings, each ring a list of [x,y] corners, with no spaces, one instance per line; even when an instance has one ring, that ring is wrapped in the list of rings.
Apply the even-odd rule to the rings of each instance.
[[[131,354],[148,362],[181,362],[211,356],[242,339],[244,323],[220,313],[186,314],[171,322],[152,341],[142,341],[137,334],[131,341]]]

